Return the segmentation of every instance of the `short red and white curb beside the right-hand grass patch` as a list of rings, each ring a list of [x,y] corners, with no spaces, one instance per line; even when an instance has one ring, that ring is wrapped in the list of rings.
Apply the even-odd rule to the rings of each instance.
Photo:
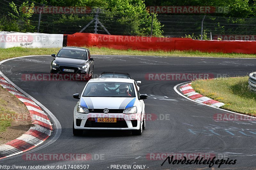
[[[192,88],[191,83],[180,86],[180,91],[188,98],[195,100],[199,103],[204,103],[206,105],[210,105],[210,106],[218,107],[218,108],[225,105],[224,103],[221,103],[216,100],[212,100],[208,97],[203,96],[202,94],[197,93]]]

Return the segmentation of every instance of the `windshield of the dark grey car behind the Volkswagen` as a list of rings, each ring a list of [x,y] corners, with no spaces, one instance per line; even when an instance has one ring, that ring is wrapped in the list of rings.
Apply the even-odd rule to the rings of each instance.
[[[57,54],[57,57],[63,58],[75,58],[81,60],[87,60],[87,52],[76,49],[61,49]]]

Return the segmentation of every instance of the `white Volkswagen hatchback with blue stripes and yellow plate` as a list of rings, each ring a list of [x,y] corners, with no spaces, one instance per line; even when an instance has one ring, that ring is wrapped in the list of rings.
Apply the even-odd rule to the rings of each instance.
[[[85,85],[74,108],[73,134],[85,129],[132,130],[141,135],[145,128],[145,104],[133,79],[94,78]]]

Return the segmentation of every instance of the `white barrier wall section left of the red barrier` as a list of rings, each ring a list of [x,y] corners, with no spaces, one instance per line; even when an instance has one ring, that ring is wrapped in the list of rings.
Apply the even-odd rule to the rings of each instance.
[[[0,48],[61,48],[63,34],[0,32]]]

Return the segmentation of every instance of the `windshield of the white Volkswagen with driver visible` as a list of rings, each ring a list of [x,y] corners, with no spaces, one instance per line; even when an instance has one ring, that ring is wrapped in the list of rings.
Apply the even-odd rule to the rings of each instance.
[[[83,97],[135,97],[132,83],[93,82],[88,83]]]

